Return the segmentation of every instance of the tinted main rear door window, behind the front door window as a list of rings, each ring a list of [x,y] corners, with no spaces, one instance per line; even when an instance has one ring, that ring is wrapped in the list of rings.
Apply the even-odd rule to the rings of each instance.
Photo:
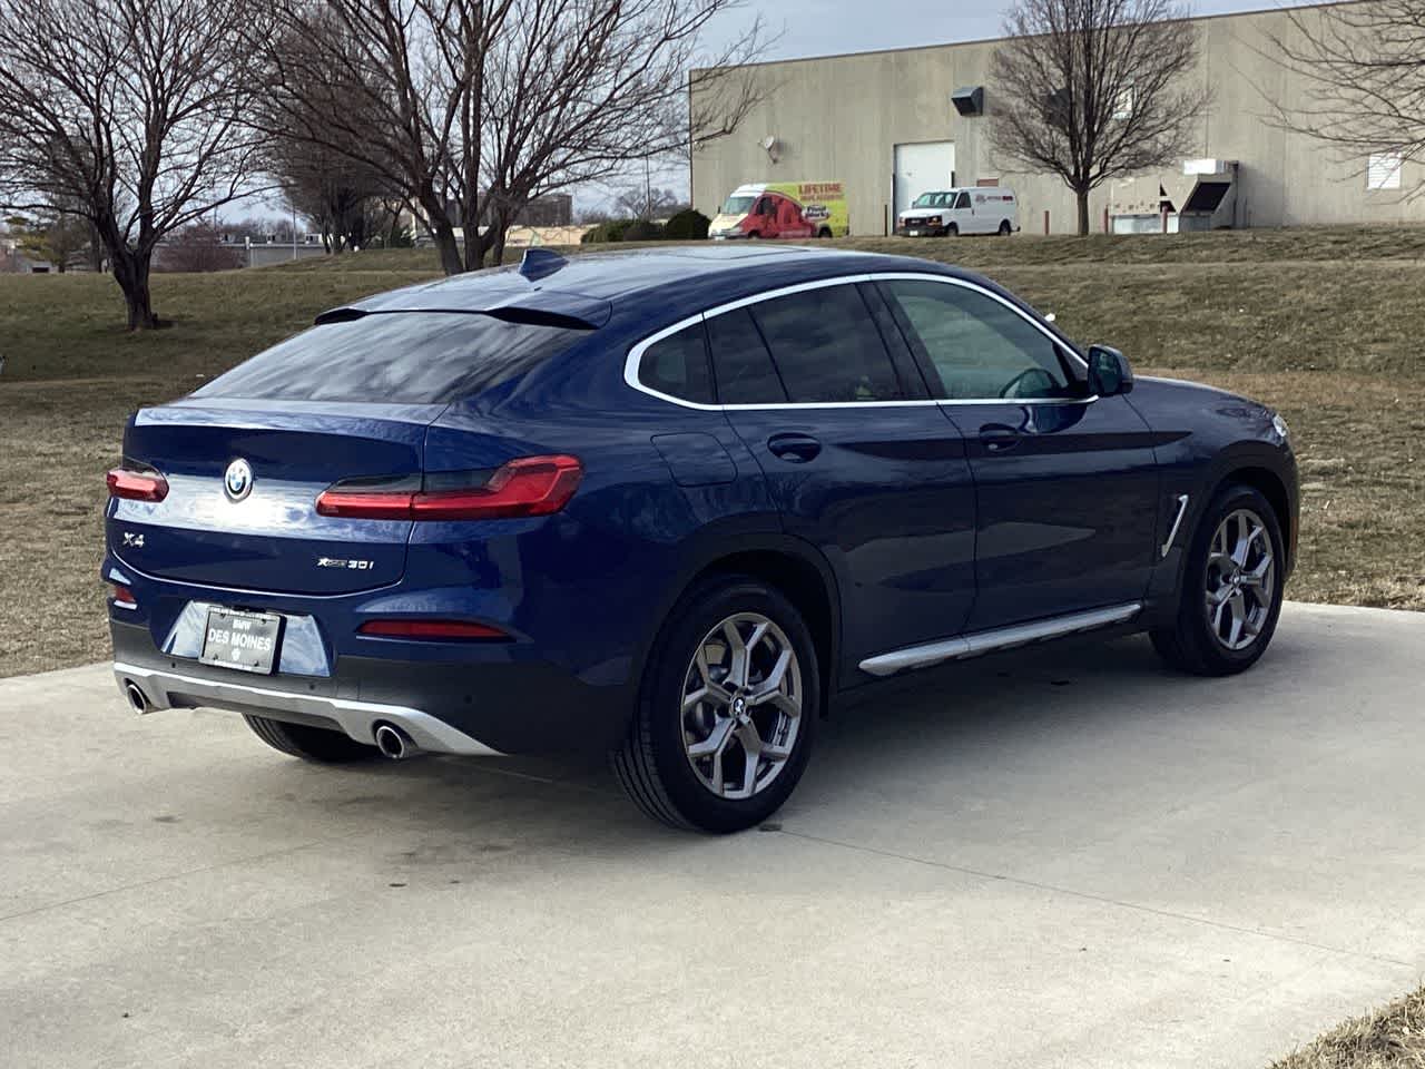
[[[792,402],[902,401],[905,392],[855,285],[751,305]]]

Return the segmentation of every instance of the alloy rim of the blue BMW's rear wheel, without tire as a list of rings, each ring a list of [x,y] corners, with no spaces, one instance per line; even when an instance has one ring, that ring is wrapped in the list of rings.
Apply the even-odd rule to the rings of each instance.
[[[720,798],[751,798],[787,767],[801,730],[801,664],[761,613],[737,613],[698,643],[683,683],[683,750]]]

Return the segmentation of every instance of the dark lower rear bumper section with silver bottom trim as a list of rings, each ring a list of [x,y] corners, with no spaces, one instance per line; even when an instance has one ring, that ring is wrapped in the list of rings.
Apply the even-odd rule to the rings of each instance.
[[[336,728],[375,744],[382,723],[443,754],[606,753],[627,730],[627,686],[547,661],[409,661],[338,656],[329,676],[251,676],[162,653],[148,629],[111,620],[114,678],[151,708],[221,708]]]

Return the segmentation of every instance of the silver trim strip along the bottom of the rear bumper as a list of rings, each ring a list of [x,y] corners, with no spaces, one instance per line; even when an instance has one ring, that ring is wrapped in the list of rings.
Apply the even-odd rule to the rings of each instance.
[[[256,716],[271,714],[282,720],[284,713],[322,717],[335,721],[358,743],[376,744],[376,724],[403,728],[422,750],[436,754],[467,757],[500,757],[499,750],[459,731],[419,708],[382,706],[375,701],[329,698],[319,694],[295,694],[285,690],[254,687],[247,683],[200,680],[172,671],[155,671],[135,664],[114,663],[114,680],[120,690],[134,683],[144,691],[150,708],[225,708],[247,710]],[[208,703],[212,703],[211,706]]]

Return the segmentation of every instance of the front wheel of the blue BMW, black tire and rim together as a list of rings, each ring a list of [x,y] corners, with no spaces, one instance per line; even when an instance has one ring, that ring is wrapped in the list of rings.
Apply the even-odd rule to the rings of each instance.
[[[1254,534],[1257,525],[1261,530]],[[1265,564],[1263,537],[1271,552]],[[1245,566],[1237,557],[1244,557]],[[1251,486],[1224,486],[1193,533],[1173,624],[1150,631],[1159,656],[1196,676],[1234,676],[1250,668],[1277,630],[1284,562],[1281,522],[1271,503]]]

